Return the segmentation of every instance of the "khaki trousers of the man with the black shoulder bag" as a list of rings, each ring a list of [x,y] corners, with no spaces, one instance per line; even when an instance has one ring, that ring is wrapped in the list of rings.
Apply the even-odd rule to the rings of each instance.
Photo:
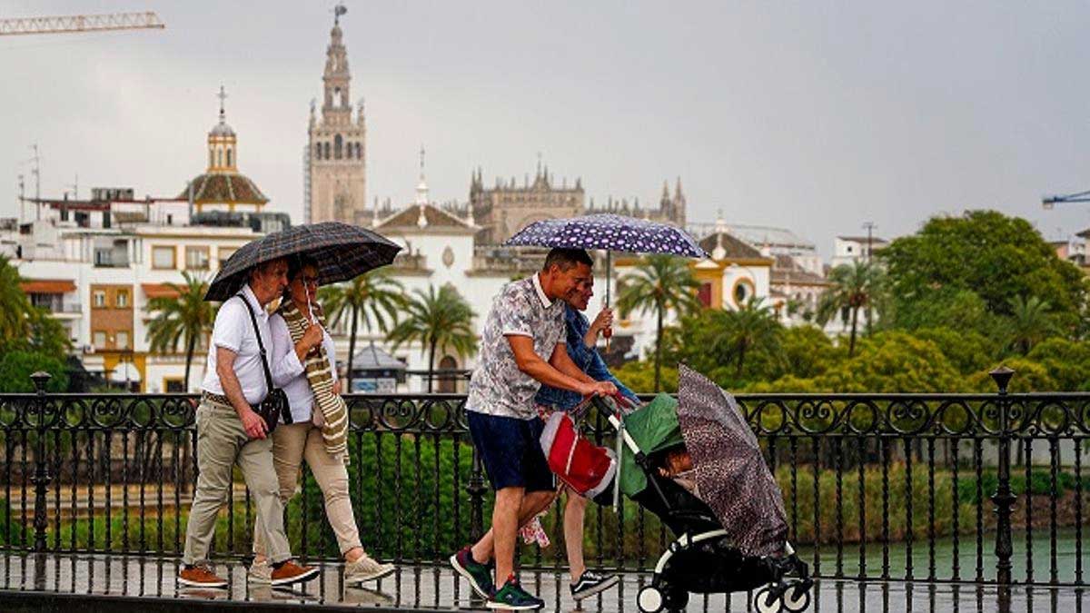
[[[202,401],[197,408],[197,488],[185,525],[184,564],[205,564],[216,534],[216,516],[230,498],[232,471],[238,464],[257,507],[254,532],[269,543],[268,557],[291,557],[283,531],[283,503],[272,467],[272,441],[250,440],[233,408]]]

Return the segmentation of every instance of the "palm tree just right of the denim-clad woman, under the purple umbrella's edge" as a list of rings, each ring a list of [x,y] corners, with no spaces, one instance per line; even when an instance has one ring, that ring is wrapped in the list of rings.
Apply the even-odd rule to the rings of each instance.
[[[689,263],[674,255],[649,255],[635,271],[625,277],[617,292],[617,308],[621,313],[654,311],[655,327],[655,392],[659,389],[663,360],[663,317],[674,310],[678,316],[700,309],[697,290],[700,284],[692,278]]]

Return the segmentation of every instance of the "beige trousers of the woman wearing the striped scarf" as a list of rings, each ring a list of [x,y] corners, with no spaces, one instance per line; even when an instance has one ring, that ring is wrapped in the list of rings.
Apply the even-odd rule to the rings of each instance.
[[[314,480],[318,482],[326,503],[326,518],[337,536],[341,555],[349,550],[363,546],[360,531],[352,515],[352,498],[348,492],[348,468],[342,457],[334,457],[326,452],[322,441],[322,430],[313,423],[281,423],[272,431],[272,465],[280,482],[280,501],[284,506],[295,494],[299,471],[303,459],[311,467]],[[254,553],[266,555],[265,541],[258,530],[254,530]],[[269,556],[270,558],[272,556]]]

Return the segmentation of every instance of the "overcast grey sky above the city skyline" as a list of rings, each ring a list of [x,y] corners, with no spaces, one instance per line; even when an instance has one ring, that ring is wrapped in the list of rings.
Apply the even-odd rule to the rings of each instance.
[[[327,5],[328,4],[328,5]],[[153,9],[164,31],[0,37],[0,216],[78,173],[174,195],[206,165],[227,87],[240,169],[302,216],[308,105],[332,2],[0,0],[0,16]],[[832,5],[835,4],[835,5]],[[953,5],[952,5],[953,4]],[[417,149],[435,200],[471,169],[533,172],[541,152],[588,196],[836,235],[916,230],[991,207],[1046,237],[1090,226],[1085,2],[393,2],[348,0],[352,97],[366,99],[367,201],[410,202]]]

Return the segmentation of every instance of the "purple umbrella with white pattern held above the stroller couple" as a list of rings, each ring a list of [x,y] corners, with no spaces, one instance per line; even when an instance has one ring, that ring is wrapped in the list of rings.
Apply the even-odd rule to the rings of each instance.
[[[604,249],[606,251],[606,305],[609,305],[611,267],[609,255],[614,251],[708,257],[707,252],[697,243],[695,239],[677,226],[611,213],[534,221],[516,232],[504,244]]]

